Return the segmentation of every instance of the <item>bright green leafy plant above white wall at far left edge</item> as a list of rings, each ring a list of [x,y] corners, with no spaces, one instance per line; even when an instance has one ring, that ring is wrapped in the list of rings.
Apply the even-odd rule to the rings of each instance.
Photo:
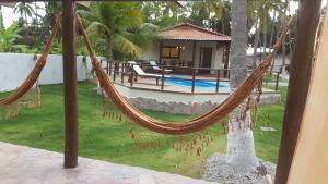
[[[7,29],[0,27],[0,52],[12,51],[15,48],[14,41],[21,37],[17,27],[19,22],[14,22]]]

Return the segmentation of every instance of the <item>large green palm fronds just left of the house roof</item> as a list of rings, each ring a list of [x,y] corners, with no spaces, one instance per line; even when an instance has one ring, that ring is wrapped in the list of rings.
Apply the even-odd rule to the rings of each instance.
[[[138,57],[157,29],[152,24],[143,24],[140,3],[95,2],[79,13],[93,44],[108,60]]]

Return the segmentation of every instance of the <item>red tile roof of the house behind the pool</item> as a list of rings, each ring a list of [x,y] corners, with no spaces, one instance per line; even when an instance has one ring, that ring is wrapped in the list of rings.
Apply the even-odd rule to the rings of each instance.
[[[159,35],[163,39],[179,40],[231,40],[230,36],[212,32],[189,23],[179,24],[173,27],[162,29]]]

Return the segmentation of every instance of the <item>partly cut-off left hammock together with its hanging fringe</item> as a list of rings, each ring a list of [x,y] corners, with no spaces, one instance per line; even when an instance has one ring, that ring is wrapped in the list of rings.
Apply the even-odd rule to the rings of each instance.
[[[17,115],[22,107],[32,108],[40,105],[40,97],[39,97],[40,91],[37,84],[37,79],[47,62],[47,58],[50,52],[52,42],[60,27],[60,22],[61,22],[61,15],[57,17],[56,24],[52,28],[51,35],[48,38],[46,46],[44,47],[42,56],[36,61],[34,69],[25,78],[23,84],[20,87],[17,87],[15,91],[10,94],[8,97],[0,99],[0,108],[1,108],[0,118],[10,119]]]

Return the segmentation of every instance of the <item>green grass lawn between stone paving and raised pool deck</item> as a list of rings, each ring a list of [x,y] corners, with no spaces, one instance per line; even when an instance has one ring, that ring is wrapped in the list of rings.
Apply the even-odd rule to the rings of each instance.
[[[226,135],[219,124],[208,130],[213,134],[214,142],[201,156],[177,152],[169,147],[136,149],[134,140],[122,122],[102,116],[101,97],[92,90],[94,87],[93,84],[79,83],[79,156],[81,157],[199,177],[207,158],[213,152],[225,151]],[[40,88],[40,107],[23,109],[19,116],[11,120],[0,120],[0,140],[62,152],[62,85],[45,85]],[[282,105],[261,107],[259,121],[255,127],[257,156],[271,162],[277,161],[286,88],[281,88],[281,91]],[[5,95],[0,94],[1,97]],[[143,112],[156,119],[176,122],[195,118],[156,111]],[[278,131],[261,132],[260,125],[269,125]],[[155,138],[165,140],[177,137],[161,135]]]

